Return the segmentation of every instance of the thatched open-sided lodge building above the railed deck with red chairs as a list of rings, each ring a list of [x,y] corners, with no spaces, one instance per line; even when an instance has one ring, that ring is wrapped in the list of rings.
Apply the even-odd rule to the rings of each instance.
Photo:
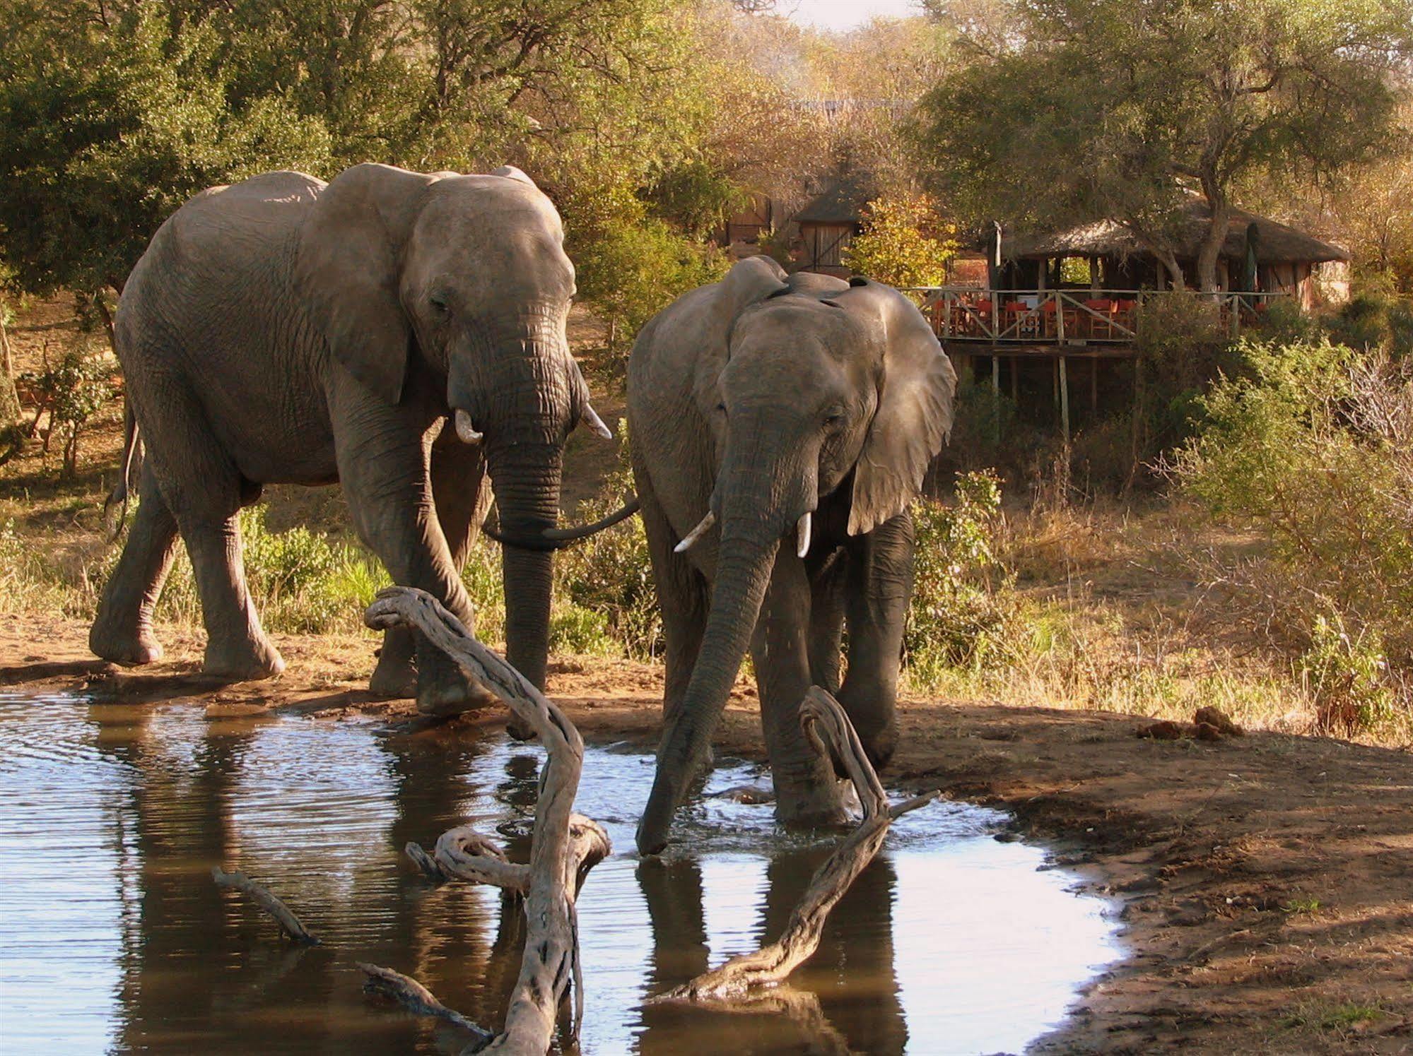
[[[1188,287],[1197,285],[1197,254],[1210,217],[1211,208],[1194,195],[1178,223],[1174,256]],[[1112,220],[1009,240],[1003,234],[1000,257],[1002,268],[993,277],[999,289],[1063,285],[1060,263],[1065,258],[1087,258],[1095,287],[1163,289],[1167,285],[1167,272],[1153,253]],[[1303,308],[1313,308],[1348,298],[1348,261],[1349,254],[1338,246],[1234,206],[1217,278],[1222,291],[1289,294]]]

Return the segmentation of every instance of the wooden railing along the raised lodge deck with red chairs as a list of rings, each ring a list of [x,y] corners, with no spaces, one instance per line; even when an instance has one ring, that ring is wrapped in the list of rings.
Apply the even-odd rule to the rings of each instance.
[[[988,344],[1130,344],[1137,337],[1139,312],[1153,291],[1142,289],[976,289],[974,287],[913,287],[903,292],[918,301],[942,340]],[[1286,294],[1201,294],[1235,337],[1255,325],[1273,299]],[[1161,294],[1171,296],[1171,292]]]

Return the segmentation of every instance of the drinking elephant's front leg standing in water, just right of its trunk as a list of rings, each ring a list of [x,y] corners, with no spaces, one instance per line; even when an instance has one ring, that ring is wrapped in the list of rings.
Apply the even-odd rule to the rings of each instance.
[[[838,824],[848,815],[834,767],[815,755],[800,728],[800,702],[810,689],[810,623],[804,562],[790,546],[781,546],[750,641],[776,816],[791,824]]]

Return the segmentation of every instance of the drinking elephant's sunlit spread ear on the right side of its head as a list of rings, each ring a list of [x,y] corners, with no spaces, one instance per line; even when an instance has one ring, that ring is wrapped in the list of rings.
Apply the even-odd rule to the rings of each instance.
[[[834,301],[877,322],[883,342],[879,405],[853,472],[849,535],[907,508],[952,431],[957,371],[917,306],[892,287],[849,280]]]

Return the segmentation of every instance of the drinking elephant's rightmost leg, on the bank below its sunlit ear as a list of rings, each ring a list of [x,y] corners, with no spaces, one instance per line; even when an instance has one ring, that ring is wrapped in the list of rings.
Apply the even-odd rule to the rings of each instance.
[[[913,597],[913,515],[907,511],[853,541],[845,592],[849,671],[839,689],[869,761],[882,768],[897,747],[897,676]]]

